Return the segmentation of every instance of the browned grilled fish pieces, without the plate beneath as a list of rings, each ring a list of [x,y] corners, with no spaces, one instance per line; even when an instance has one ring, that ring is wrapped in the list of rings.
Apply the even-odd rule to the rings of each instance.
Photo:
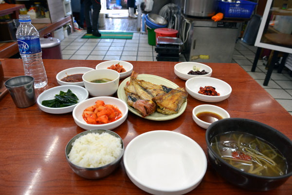
[[[155,111],[165,115],[179,112],[188,95],[183,88],[173,89],[137,79],[137,76],[138,73],[133,71],[124,88],[129,106],[132,106],[143,117],[151,115]]]

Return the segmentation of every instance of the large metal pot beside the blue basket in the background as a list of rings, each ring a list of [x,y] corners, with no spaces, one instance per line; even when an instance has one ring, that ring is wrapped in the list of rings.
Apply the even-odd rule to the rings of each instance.
[[[217,0],[184,0],[183,13],[195,17],[211,17],[215,15]]]

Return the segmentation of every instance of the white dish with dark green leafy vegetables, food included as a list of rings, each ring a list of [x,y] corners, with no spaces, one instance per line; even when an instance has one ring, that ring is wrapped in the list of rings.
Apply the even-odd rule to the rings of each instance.
[[[64,114],[73,111],[77,103],[88,99],[88,91],[77,85],[61,85],[41,93],[37,98],[40,110],[51,114]]]

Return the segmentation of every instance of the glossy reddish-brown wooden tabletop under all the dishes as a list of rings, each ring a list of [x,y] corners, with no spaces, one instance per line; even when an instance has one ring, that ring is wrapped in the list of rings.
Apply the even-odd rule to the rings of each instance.
[[[4,76],[23,75],[21,59],[0,59]],[[100,60],[44,59],[49,87],[58,86],[55,76],[69,67],[95,68]],[[185,81],[174,74],[176,62],[130,61],[140,74],[153,74],[185,87]],[[227,110],[231,117],[243,117],[266,123],[292,139],[292,116],[279,105],[238,64],[207,63],[213,69],[212,77],[226,81],[232,87],[231,96],[221,102],[209,103]],[[121,79],[120,81],[122,81]],[[169,121],[151,121],[128,113],[127,120],[113,131],[119,134],[125,146],[134,137],[154,130],[182,133],[194,139],[206,153],[205,129],[192,119],[192,110],[200,104],[208,104],[188,96],[184,113]],[[37,104],[17,108],[9,94],[0,100],[0,194],[1,195],[139,195],[146,194],[128,178],[125,167],[100,180],[88,180],[77,176],[70,169],[65,146],[68,141],[83,132],[72,113],[53,115],[42,112]],[[223,180],[208,163],[201,184],[189,194],[196,195],[289,195],[292,194],[292,178],[282,186],[268,192],[251,192],[240,189]]]

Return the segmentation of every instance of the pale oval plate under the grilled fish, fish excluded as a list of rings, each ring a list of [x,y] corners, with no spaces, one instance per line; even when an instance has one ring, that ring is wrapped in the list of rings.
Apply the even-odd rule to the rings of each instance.
[[[171,87],[173,89],[179,87],[174,82],[171,82],[170,80],[167,80],[166,78],[158,77],[158,76],[155,76],[155,75],[141,74],[141,75],[138,75],[138,79],[149,81],[149,82],[152,82],[152,83],[158,84],[158,85],[165,85],[166,87]],[[118,92],[117,92],[118,98],[122,99],[126,103],[127,103],[127,97],[126,97],[126,94],[125,94],[124,87],[126,86],[126,83],[129,80],[130,80],[130,77],[125,78],[123,80],[123,82],[121,82],[121,84],[120,84],[120,86],[118,88]],[[184,110],[186,108],[186,104],[187,104],[187,102],[185,101],[183,103],[180,111],[178,113],[176,113],[176,114],[164,115],[164,114],[159,113],[159,112],[154,112],[153,114],[151,114],[151,115],[149,115],[147,117],[144,117],[144,118],[149,119],[149,120],[171,120],[171,119],[179,117],[179,116],[181,116],[183,114],[183,112],[184,112]],[[127,103],[127,105],[128,105],[128,103]],[[128,105],[128,109],[129,109],[130,112],[134,113],[135,115],[137,115],[139,117],[142,117],[142,115],[140,115],[133,107]]]

